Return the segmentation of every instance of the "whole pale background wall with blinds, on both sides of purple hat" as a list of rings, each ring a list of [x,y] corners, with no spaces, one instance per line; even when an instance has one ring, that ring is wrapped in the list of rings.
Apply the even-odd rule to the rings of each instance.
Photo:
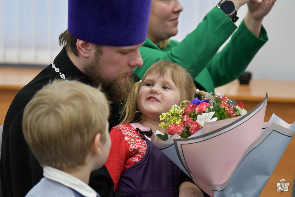
[[[219,0],[180,0],[181,41],[194,30]],[[295,80],[294,0],[277,0],[263,21],[269,41],[256,54],[247,71],[253,78]],[[247,12],[243,6],[238,16]],[[67,0],[0,0],[0,64],[48,65],[60,51],[58,36],[67,28]]]

